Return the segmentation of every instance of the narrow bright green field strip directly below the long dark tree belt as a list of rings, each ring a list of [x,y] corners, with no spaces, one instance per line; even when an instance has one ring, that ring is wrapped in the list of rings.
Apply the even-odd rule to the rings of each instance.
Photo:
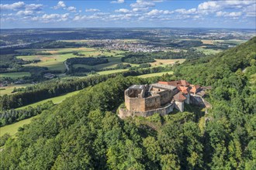
[[[71,96],[73,96],[74,94],[79,93],[80,91],[81,91],[81,90],[77,90],[77,91],[73,91],[73,92],[71,92],[71,93],[66,93],[66,94],[61,95],[61,96],[59,96],[59,97],[52,97],[52,98],[50,98],[50,99],[41,100],[41,101],[36,102],[36,103],[34,103],[34,104],[29,104],[29,105],[26,105],[26,106],[24,106],[24,107],[19,107],[19,108],[17,108],[17,109],[24,109],[24,108],[26,108],[26,107],[36,107],[37,105],[39,105],[39,104],[44,104],[44,103],[46,103],[47,101],[50,101],[50,100],[52,100],[52,101],[54,102],[54,104],[59,104],[59,103],[61,103],[61,101],[65,100],[67,97],[71,97]]]

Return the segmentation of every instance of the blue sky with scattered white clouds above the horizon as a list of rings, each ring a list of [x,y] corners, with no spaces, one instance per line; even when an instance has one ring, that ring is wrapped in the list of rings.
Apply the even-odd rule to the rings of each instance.
[[[1,1],[1,28],[206,27],[255,29],[256,2]]]

